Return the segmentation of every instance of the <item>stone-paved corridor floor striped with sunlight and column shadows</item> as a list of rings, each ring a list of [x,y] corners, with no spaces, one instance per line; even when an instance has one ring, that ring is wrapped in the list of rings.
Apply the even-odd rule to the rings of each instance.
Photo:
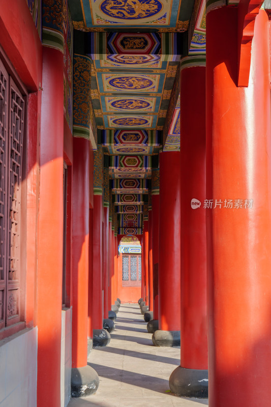
[[[122,304],[106,347],[96,347],[88,363],[98,372],[96,394],[72,399],[68,407],[203,407],[207,399],[170,393],[168,379],[179,364],[179,347],[153,346],[138,304]]]

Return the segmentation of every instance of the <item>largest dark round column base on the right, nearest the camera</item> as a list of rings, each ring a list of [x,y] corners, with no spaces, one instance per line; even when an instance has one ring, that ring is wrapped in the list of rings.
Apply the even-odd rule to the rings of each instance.
[[[177,396],[207,398],[208,370],[178,366],[169,377],[169,387]]]

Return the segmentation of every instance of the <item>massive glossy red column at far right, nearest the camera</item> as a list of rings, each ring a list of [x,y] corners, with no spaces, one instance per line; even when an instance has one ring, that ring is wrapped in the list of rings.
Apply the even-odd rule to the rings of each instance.
[[[235,8],[207,14],[206,198],[223,201],[221,208],[206,209],[209,405],[267,407],[271,380],[268,18],[261,10],[255,20],[247,88],[236,86],[237,23]],[[227,36],[218,38],[218,32]],[[249,207],[246,199],[253,199]]]

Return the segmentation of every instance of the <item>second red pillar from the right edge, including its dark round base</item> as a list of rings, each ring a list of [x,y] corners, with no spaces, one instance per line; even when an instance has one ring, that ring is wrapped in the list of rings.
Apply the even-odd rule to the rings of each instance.
[[[189,61],[189,67],[185,63]],[[178,395],[208,394],[206,323],[205,66],[180,72],[180,366],[170,377]],[[202,63],[201,63],[202,64]],[[195,100],[197,103],[195,104]],[[202,202],[200,205],[199,202]]]

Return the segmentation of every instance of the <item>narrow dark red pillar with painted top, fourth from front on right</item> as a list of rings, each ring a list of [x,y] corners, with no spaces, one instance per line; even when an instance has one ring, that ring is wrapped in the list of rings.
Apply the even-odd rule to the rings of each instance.
[[[152,170],[152,247],[153,247],[153,287],[154,287],[154,315],[153,319],[159,318],[159,290],[158,290],[158,272],[159,272],[159,183],[160,170]]]

